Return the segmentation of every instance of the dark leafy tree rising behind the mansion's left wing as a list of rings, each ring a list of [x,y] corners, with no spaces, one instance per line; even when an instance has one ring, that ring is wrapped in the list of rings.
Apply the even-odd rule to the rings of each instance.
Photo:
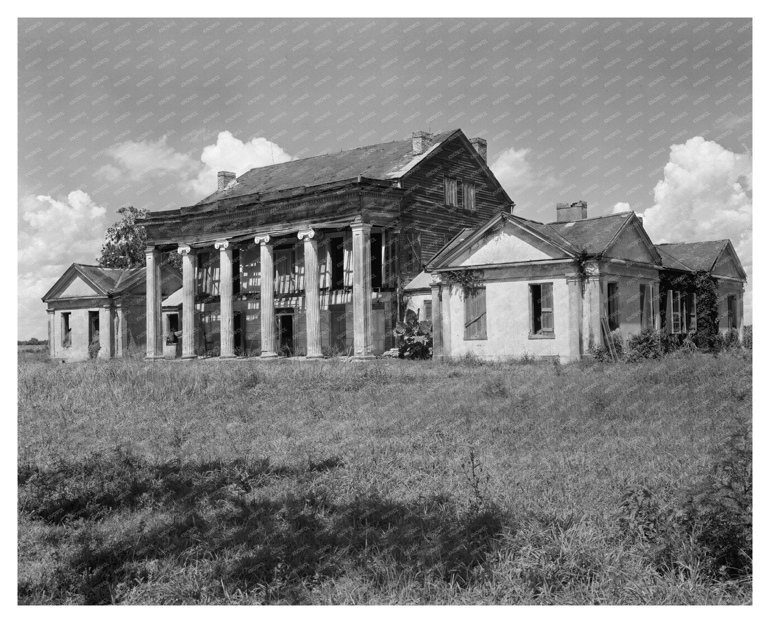
[[[122,219],[107,229],[104,235],[102,256],[97,260],[99,266],[106,268],[146,266],[147,233],[144,226],[136,223],[136,219],[146,213],[146,209],[136,209],[134,206],[125,206],[118,210]],[[166,257],[162,260],[170,263],[176,270],[182,270],[182,257],[178,253],[172,251],[163,255]]]

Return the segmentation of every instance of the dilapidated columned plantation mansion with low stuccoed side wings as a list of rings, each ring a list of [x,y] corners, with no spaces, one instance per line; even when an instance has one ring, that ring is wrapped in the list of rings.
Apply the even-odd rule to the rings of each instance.
[[[199,203],[146,215],[146,269],[75,264],[52,287],[51,357],[96,340],[99,357],[365,359],[413,310],[434,357],[576,360],[608,330],[695,332],[687,276],[704,272],[718,329],[742,332],[729,240],[656,244],[634,213],[591,217],[582,201],[550,223],[514,206],[487,142],[460,129],[219,172]]]

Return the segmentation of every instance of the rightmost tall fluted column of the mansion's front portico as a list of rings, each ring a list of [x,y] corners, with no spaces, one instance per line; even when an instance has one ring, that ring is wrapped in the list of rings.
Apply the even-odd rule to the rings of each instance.
[[[367,223],[353,223],[353,358],[367,359],[370,354],[372,281],[370,232]]]

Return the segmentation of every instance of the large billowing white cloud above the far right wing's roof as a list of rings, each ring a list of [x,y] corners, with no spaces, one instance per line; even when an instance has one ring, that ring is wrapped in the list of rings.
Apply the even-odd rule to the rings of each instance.
[[[672,145],[644,229],[655,243],[729,238],[748,275],[746,323],[752,321],[752,156],[701,136]]]

